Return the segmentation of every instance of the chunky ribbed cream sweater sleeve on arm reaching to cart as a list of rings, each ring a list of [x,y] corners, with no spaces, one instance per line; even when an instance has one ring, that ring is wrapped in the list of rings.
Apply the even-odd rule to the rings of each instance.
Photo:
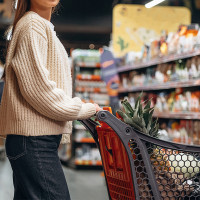
[[[17,45],[11,61],[20,92],[39,113],[58,121],[87,119],[95,114],[95,106],[71,98],[56,83],[48,79],[48,42],[45,36],[31,29]]]

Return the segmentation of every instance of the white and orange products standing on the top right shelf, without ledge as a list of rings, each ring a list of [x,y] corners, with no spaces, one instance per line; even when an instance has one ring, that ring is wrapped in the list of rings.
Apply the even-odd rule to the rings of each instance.
[[[198,24],[181,25],[177,32],[163,31],[159,40],[144,44],[141,52],[129,52],[125,65],[148,62],[171,55],[183,55],[200,50],[200,29]]]

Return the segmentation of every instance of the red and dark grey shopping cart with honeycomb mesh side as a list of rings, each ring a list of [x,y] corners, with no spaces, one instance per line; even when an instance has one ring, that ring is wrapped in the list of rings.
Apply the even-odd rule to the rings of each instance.
[[[111,200],[200,199],[200,146],[155,139],[108,111],[83,120],[100,150]]]

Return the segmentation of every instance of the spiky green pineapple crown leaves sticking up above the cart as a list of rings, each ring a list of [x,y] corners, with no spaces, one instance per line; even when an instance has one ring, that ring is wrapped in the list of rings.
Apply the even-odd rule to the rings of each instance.
[[[155,121],[152,119],[154,107],[151,107],[150,99],[145,101],[145,103],[147,103],[143,108],[144,102],[141,102],[142,95],[143,93],[140,93],[140,95],[137,97],[134,108],[132,108],[127,99],[121,101],[124,112],[122,110],[118,110],[117,113],[122,117],[125,123],[129,124],[136,130],[158,138],[158,119]]]

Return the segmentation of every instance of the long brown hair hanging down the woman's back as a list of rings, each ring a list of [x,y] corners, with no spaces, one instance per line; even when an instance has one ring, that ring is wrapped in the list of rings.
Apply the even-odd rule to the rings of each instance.
[[[14,9],[16,4],[17,4],[16,9]],[[52,8],[52,14],[58,10],[58,5],[56,7]],[[31,0],[15,0],[14,1],[14,4],[13,4],[13,9],[15,12],[14,21],[13,21],[13,24],[11,26],[9,26],[9,28],[5,31],[5,34],[4,34],[5,39],[7,40],[6,41],[6,49],[5,49],[5,53],[4,53],[5,58],[6,58],[6,54],[8,51],[10,38],[12,37],[12,35],[15,31],[15,26],[16,26],[17,22],[23,17],[25,12],[30,10],[30,6],[31,6]],[[4,76],[5,76],[5,73],[3,75],[3,78],[4,78]]]

